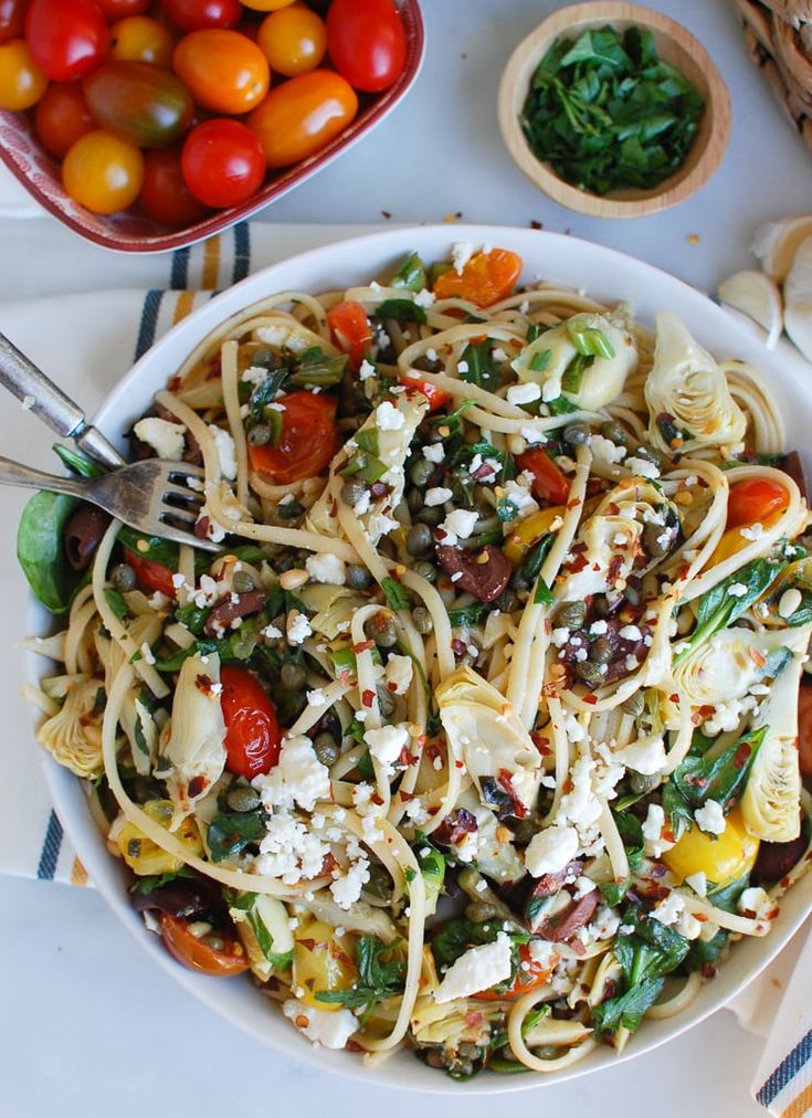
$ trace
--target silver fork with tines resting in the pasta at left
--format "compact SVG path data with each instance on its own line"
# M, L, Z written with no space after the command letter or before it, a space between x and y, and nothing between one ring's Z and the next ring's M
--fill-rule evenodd
M147 458L98 477L57 477L0 455L0 484L66 493L89 501L145 536L219 551L192 529L202 505L204 471L186 462ZM189 479L198 489L190 489Z

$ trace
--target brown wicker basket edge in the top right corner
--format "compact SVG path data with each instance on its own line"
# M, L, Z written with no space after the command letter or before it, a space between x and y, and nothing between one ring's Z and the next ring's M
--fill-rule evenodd
M750 58L812 151L812 0L734 0Z

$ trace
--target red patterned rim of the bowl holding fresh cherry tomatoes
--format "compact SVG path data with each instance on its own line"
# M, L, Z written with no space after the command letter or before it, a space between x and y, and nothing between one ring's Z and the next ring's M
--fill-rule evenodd
M48 191L36 187L26 172L20 168L11 151L0 141L0 161L13 174L20 186L37 201L51 217L55 217L63 225L66 225L73 233L78 234L85 240L89 240L101 248L106 248L116 253L139 253L155 254L172 252L178 248L187 248L205 240L218 233L224 233L233 225L245 221L266 206L271 206L280 198L294 190L301 182L305 182L317 174L322 168L333 160L343 155L353 148L365 135L376 129L404 100L412 86L417 80L426 54L426 28L423 19L419 0L396 0L398 9L408 15L408 26L406 27L407 55L406 65L388 89L380 94L362 94L362 96L375 96L376 100L350 121L337 136L334 136L324 148L320 149L308 159L300 160L291 167L281 168L277 179L263 186L256 195L248 198L239 206L229 209L214 210L208 217L182 229L169 230L155 236L143 236L132 234L117 234L115 225L106 231L91 229L84 226L76 217L63 208L57 200L50 197ZM287 80L287 79L286 79ZM368 113L368 115L363 115ZM0 113L0 123L3 117L15 119L19 113ZM242 117L229 117L240 119ZM38 141L38 150L41 144ZM44 151L44 149L41 149ZM47 152L45 152L48 155ZM50 155L48 155L50 158ZM58 172L58 167L57 167ZM59 181L58 173L51 176L55 181ZM103 217L104 215L95 215Z

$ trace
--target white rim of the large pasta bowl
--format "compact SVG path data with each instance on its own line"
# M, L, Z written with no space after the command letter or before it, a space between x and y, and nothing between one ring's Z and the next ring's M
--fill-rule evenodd
M639 301L653 300L660 297L659 288L664 285L669 301L673 300L678 304L680 314L688 315L689 319L693 314L697 318L704 316L705 321L701 328L691 324L692 332L696 331L700 339L704 334L711 332L711 328L715 326L718 335L725 337L724 344L727 345L727 339L730 339L730 345L737 347L736 351L743 352L743 356L746 357L749 353L755 359L762 358L766 366L772 364L774 368L783 366L785 370L789 368L789 372L785 373L786 381L795 378L800 380L804 375L805 362L800 357L793 358L789 347L786 352L782 351L780 354L768 351L745 326L731 320L720 306L704 293L658 267L615 249L546 230L499 226L460 225L450 227L444 224L405 226L310 249L263 268L221 292L171 328L155 342L151 350L133 364L106 396L97 409L95 421L103 430L106 429L110 433L114 443L117 442L121 446L123 439L120 436L116 437L116 432L111 429L111 424L115 424L116 429L119 429L121 424L133 415L133 408L138 410L139 397L151 397L154 388L150 383L150 378L153 383L160 383L167 379L171 366L176 361L172 351L190 352L200 338L205 337L218 322L229 318L235 309L246 306L271 291L290 288L291 285L286 282L289 272L311 269L313 273L312 282L324 283L323 290L328 290L333 278L330 268L334 269L334 265L331 263L334 254L341 255L340 273L350 282L353 276L357 277L359 273L365 273L368 269L368 264L365 262L370 258L385 257L388 260L398 253L407 252L410 248L434 252L440 245L443 245L445 249L450 243L456 239L474 244L502 244L507 241L506 247L512 245L517 249L523 246L526 255L531 256L531 259L526 258L525 260L528 272L538 271L539 267L549 269L544 273L546 280L567 285L573 285L573 278L570 275L561 277L560 273L570 269L572 260L584 274L587 274L588 265L597 264L603 273L603 278L594 278L591 284L591 290L597 297L606 297L602 294L605 290L614 290L617 295L624 295L623 285L631 282L639 292ZM427 248L423 247L422 243L424 241L427 244ZM553 260L551 265L548 263L549 259ZM327 273L329 278L318 280L317 274L323 273ZM592 275L592 273L588 274ZM657 291L657 296L651 294L654 291ZM648 312L643 312L640 316L645 319L646 315ZM714 348L718 349L720 344L721 342L717 341L714 343ZM777 395L780 404L789 402L781 400L781 390ZM783 395L787 395L785 390ZM783 415L783 408L780 410ZM29 595L29 632L43 632L43 622L48 618L49 615ZM26 654L26 663L27 676L30 682L36 683L46 674L48 662L36 656L35 653ZM447 1077L438 1076L417 1061L414 1061L410 1071L405 1063L400 1067L400 1061L397 1059L393 1059L381 1068L367 1069L355 1053L331 1052L323 1049L314 1051L313 1046L294 1029L291 1029L287 1022L281 1021L281 1015L277 1024L281 1023L284 1029L277 1030L275 1035L271 1035L274 1032L273 1029L262 1027L257 1022L227 1007L218 993L223 988L220 985L177 966L155 937L147 935L140 917L128 906L125 893L121 889L121 869L119 863L107 853L103 839L89 818L81 783L73 774L57 765L44 750L40 750L39 757L55 808L76 853L85 863L106 903L128 927L141 947L150 953L167 974L171 975L192 996L215 1010L219 1016L255 1036L270 1046L272 1051L278 1051L300 1063L311 1064L322 1071L332 1071L351 1079L366 1080L404 1090L429 1095L454 1095L456 1097L525 1091L567 1082L582 1076L598 1072L605 1067L616 1067L642 1057L669 1040L681 1035L695 1024L705 1021L737 996L789 942L805 920L812 901L812 894L810 894L812 879L808 878L805 882L799 882L787 894L790 903L787 904L787 900L784 901L776 926L768 937L761 940L745 939L737 945L731 960L728 960L726 967L720 970L724 980L717 978L714 984L706 985L704 992L707 996L700 995L699 1004L695 1002L692 1008L689 1007L686 1013L668 1021L648 1022L644 1035L636 1038L635 1043L630 1044L620 1055L613 1054L610 1048L605 1048L605 1051L604 1049L598 1050L596 1060L587 1057L582 1063L577 1063L564 1072L550 1076L482 1076L468 1083L455 1082ZM755 958L747 967L749 955L755 955ZM739 961L736 963L736 960ZM736 964L736 968L730 970L729 968L734 964ZM736 969L739 972L738 977ZM249 991L249 994L252 997L256 997L255 991ZM263 1020L266 1020L266 1016Z

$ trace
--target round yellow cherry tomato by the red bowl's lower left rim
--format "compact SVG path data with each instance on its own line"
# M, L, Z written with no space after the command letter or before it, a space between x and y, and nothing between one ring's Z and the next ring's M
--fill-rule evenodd
M141 192L144 161L139 149L108 132L77 140L62 165L66 192L94 214L126 209Z

